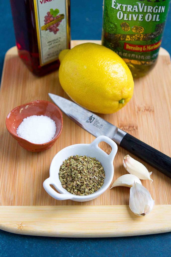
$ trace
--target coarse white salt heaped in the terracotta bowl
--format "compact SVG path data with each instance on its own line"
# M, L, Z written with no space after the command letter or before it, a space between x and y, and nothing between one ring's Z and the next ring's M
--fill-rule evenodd
M25 118L17 128L17 135L34 144L51 141L56 133L54 120L44 115Z

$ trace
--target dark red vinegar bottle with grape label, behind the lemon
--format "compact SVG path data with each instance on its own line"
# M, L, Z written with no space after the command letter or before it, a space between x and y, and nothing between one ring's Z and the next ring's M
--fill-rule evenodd
M37 76L59 68L70 48L69 0L11 0L18 55Z

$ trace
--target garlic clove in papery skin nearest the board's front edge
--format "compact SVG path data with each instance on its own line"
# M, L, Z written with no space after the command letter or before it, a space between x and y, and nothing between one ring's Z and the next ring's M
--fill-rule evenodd
M135 182L130 188L129 208L134 214L145 216L151 212L153 206L154 200L149 191L139 183Z

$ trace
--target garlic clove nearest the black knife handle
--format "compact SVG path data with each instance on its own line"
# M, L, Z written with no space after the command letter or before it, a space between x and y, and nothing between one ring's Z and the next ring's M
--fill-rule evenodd
M148 170L142 163L140 163L139 161L136 161L128 154L124 157L123 163L124 163L124 168L130 174L137 176L139 179L148 179L153 182L153 180L150 178L150 175L152 174L152 172L148 172Z

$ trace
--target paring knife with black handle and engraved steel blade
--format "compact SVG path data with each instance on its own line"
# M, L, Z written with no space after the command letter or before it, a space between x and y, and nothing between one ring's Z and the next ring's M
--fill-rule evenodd
M94 136L105 135L115 143L171 178L171 158L83 107L49 93L53 102L75 123Z

